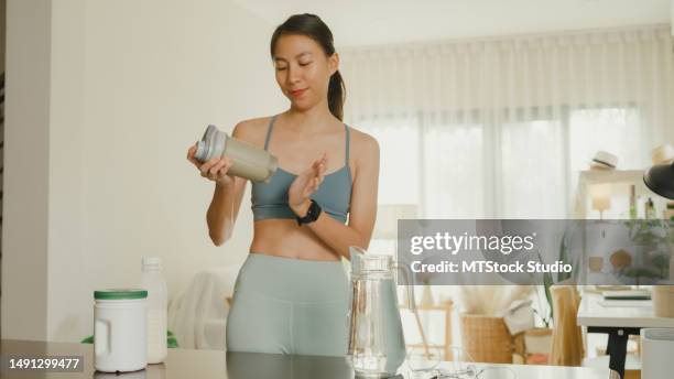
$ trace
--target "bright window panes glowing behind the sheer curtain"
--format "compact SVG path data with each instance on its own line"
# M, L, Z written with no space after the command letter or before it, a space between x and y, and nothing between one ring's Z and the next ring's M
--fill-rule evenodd
M380 144L380 204L417 204L425 218L566 218L578 172L597 150L617 154L620 167L648 165L637 107L476 110L442 119L420 112L356 123Z

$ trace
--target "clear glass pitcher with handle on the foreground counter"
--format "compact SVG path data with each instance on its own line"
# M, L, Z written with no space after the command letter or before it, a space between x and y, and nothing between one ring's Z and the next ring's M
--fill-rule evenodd
M351 302L347 360L360 378L394 376L405 360L405 340L398 307L395 271L407 284L409 307L415 308L411 270L394 264L393 257L366 253L349 248L351 258Z

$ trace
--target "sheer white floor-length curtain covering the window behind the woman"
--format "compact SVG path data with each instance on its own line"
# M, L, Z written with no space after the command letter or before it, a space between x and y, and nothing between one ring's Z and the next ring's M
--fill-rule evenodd
M380 142L380 204L569 217L597 150L643 169L674 130L672 46L653 25L340 51L346 121Z

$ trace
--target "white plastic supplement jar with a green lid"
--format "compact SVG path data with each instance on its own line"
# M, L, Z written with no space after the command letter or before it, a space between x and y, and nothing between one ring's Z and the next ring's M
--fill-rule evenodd
M99 371L135 371L145 368L148 291L94 291L94 367Z

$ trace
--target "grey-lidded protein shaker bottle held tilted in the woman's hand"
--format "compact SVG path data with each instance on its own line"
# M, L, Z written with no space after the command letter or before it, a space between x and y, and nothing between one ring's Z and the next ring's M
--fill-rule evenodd
M276 172L276 158L267 150L229 137L216 126L209 124L202 140L196 143L194 156L202 163L216 156L233 160L229 173L253 182L267 182Z

